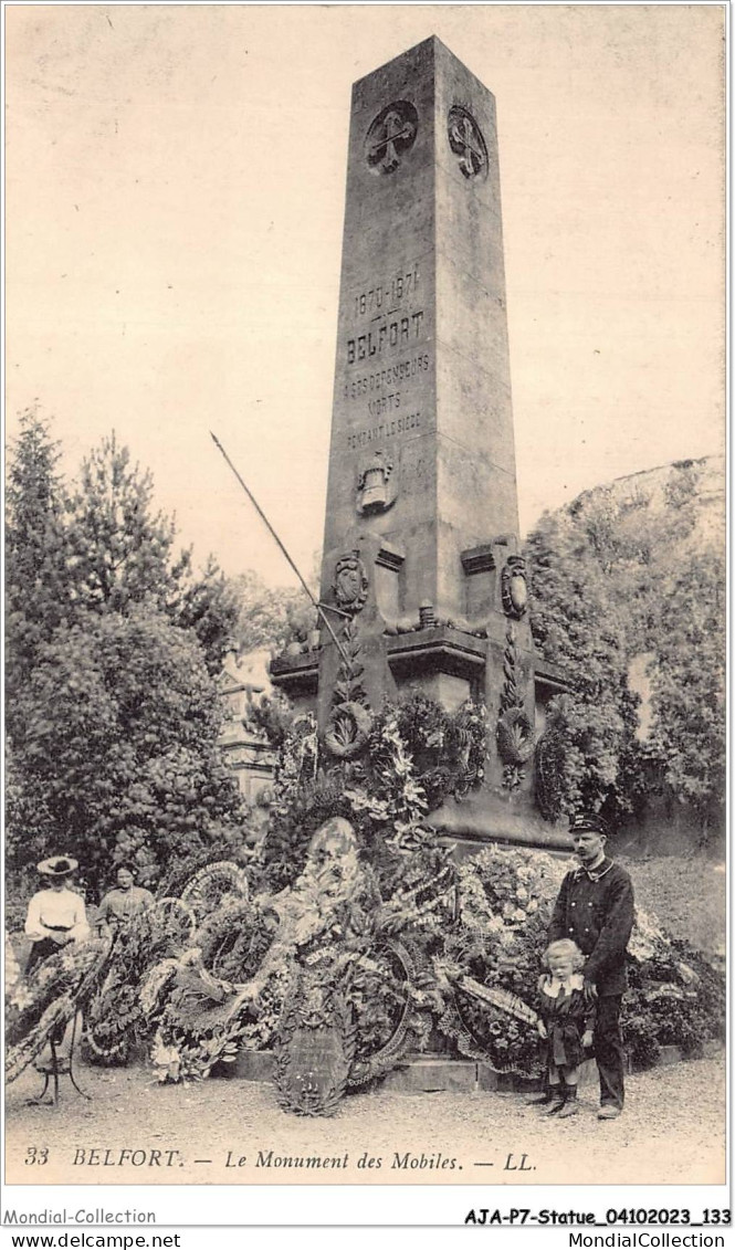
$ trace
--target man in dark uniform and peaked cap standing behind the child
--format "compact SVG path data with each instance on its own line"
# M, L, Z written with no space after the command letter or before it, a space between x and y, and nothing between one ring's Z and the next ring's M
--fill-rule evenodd
M549 941L571 938L585 956L585 995L598 998L595 1058L600 1074L599 1120L615 1120L625 1098L620 1004L626 988L625 949L635 919L632 884L605 855L608 828L596 815L570 826L579 868L561 882Z

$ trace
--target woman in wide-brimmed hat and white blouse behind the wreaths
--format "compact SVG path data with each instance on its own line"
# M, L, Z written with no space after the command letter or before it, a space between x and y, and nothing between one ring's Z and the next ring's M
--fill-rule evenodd
M44 889L34 894L28 905L25 932L32 946L25 969L28 976L34 968L58 955L71 941L85 941L89 935L84 899L69 889L69 880L78 862L69 855L52 855L36 865L44 879Z

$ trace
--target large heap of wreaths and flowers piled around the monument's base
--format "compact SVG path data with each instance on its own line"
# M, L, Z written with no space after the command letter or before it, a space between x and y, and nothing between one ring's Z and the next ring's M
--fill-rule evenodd
M450 715L415 694L360 729L359 751L325 754L314 718L296 718L256 855L192 864L181 898L120 932L89 1011L98 1061L124 1061L145 1040L159 1080L189 1081L240 1049L274 1049L280 1098L301 1114L331 1114L345 1089L436 1031L499 1071L539 1070L532 1008L569 862L489 846L456 864L439 845L431 811L482 779L480 705ZM719 1035L722 979L704 958L644 912L630 956L624 1030L636 1062ZM321 1029L332 1068L299 1075Z

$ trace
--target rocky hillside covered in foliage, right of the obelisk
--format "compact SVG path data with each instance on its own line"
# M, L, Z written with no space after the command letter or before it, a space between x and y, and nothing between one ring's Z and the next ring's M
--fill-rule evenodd
M575 691L551 709L558 814L590 801L642 820L684 809L705 835L721 822L725 516L712 456L585 491L529 535L536 646Z

